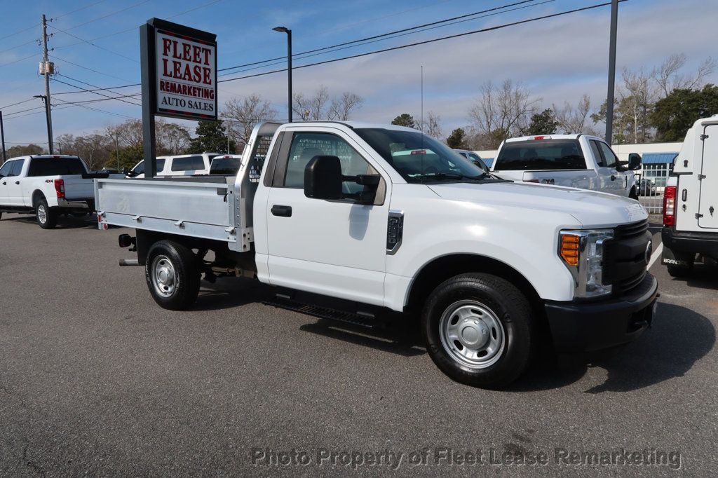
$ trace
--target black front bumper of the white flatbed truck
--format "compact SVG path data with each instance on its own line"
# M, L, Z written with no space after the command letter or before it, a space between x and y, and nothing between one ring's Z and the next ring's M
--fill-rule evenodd
M658 281L650 273L625 296L591 302L546 301L557 352L592 352L631 342L651 326Z

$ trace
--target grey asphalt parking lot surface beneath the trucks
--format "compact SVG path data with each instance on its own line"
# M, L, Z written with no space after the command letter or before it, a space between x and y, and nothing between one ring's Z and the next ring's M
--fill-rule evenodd
M0 221L2 476L718 466L718 274L707 266L673 280L656 261L658 316L643 337L591 362L542 361L498 392L445 377L409 321L348 329L262 305L252 282L203 288L192 311L160 309L144 270L117 266L131 257L119 231ZM548 463L510 464L507 451ZM625 461L634 451L642 464ZM572 452L618 458L572 464Z

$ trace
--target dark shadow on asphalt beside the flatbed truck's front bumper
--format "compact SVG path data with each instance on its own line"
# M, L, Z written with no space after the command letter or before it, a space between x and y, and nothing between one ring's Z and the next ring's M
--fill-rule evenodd
M682 377L713 350L715 341L715 327L707 317L686 307L661 303L653 328L635 342L590 358L571 357L570 366L533 367L509 390L560 388L580 380L589 367L605 369L608 377L584 393L639 390Z

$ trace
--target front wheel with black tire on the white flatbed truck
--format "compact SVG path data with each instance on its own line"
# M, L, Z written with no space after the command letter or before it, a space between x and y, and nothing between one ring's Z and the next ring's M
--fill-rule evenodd
M493 320L493 322L483 322L484 319L481 319L480 323L488 328L477 327L476 331L472 332L475 334L473 337L479 337L478 340L482 337L485 339L487 329L494 339L497 337L497 332L503 337L503 349L493 355L490 359L493 362L480 367L475 364L467 365L457 359L460 350L464 348L458 348L461 344L457 343L457 340L453 342L456 346L444 345L443 332L440 332L442 327L449 327L448 323L454 324L458 320L460 311L456 309L457 307L465 312L468 309L471 313L474 311L472 304L478 304L488 313L477 314L475 317L488 317ZM452 317L454 313L457 317ZM490 317L491 314L493 319ZM491 323L496 324L496 319L500 327L491 325ZM462 320L477 324L473 318ZM472 327L468 325L467 328ZM459 324L451 327L462 326ZM462 330L462 340L465 339L463 334L467 328ZM503 388L516 380L526 370L536 341L531 306L526 296L505 279L486 273L455 276L434 289L421 312L421 332L424 334L429 356L442 372L457 382L481 388ZM446 338L447 335L444 334L444 337ZM488 337L488 340L491 341L491 337ZM477 350L480 348L477 347ZM470 351L471 347L467 347L467 352ZM482 359L477 357L474 360Z

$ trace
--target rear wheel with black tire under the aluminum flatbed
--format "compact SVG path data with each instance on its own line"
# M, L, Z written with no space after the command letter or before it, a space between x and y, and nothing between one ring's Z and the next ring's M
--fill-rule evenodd
M159 269L164 271L164 282ZM197 301L200 269L192 250L184 245L170 240L154 243L147 253L144 270L149 293L163 309L186 310Z

